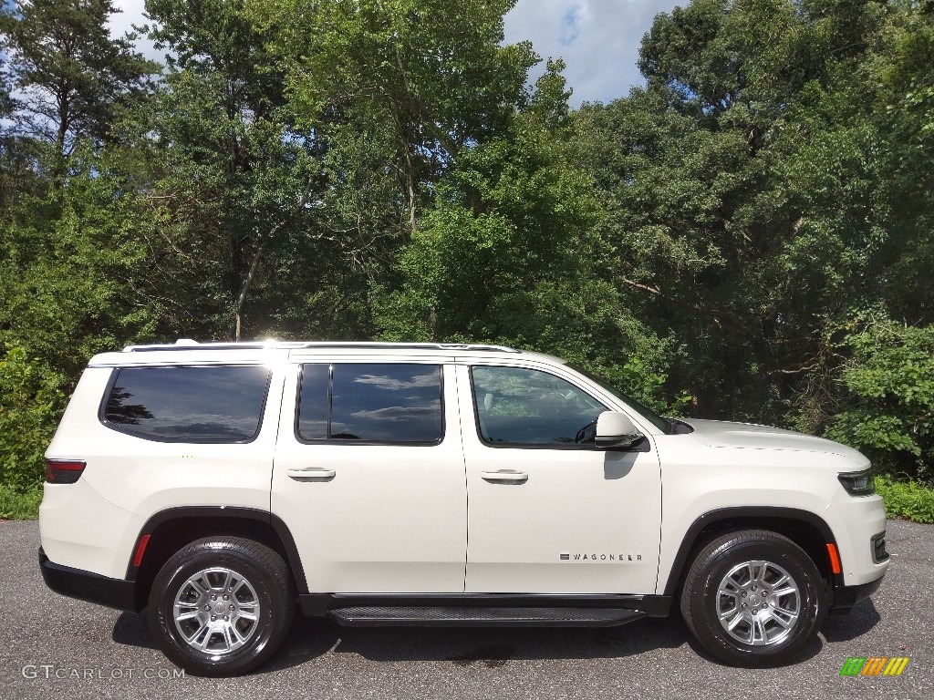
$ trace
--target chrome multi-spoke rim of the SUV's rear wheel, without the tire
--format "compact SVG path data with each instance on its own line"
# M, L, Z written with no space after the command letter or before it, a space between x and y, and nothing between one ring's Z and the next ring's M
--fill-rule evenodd
M260 598L242 574L205 568L182 584L172 610L176 629L191 649L222 656L256 634Z

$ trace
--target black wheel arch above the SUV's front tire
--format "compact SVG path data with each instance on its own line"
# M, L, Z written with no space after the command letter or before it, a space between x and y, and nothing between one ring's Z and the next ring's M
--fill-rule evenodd
M829 525L814 512L795 508L749 506L708 511L687 528L685 537L672 561L664 595L676 595L686 571L697 553L712 539L745 529L771 530L797 544L814 561L828 585L842 586L841 574L834 574L828 556L828 544L837 540Z

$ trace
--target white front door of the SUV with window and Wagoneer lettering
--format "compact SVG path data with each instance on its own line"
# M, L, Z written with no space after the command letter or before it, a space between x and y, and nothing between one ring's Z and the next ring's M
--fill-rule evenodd
M570 370L457 371L466 592L655 593L661 476L651 435L635 450L596 449L597 416L619 407Z

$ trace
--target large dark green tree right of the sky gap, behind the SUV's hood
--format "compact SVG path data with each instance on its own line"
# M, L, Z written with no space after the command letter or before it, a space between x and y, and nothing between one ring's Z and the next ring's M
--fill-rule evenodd
M644 91L576 116L616 285L681 343L670 381L698 415L798 415L813 371L835 376L833 329L878 301L889 195L859 68L885 21L862 1L697 0L645 36Z

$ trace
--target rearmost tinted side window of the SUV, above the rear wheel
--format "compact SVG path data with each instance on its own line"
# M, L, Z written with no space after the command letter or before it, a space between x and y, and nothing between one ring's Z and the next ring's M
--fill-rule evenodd
M162 442L249 442L270 372L259 366L125 367L110 383L106 427Z

